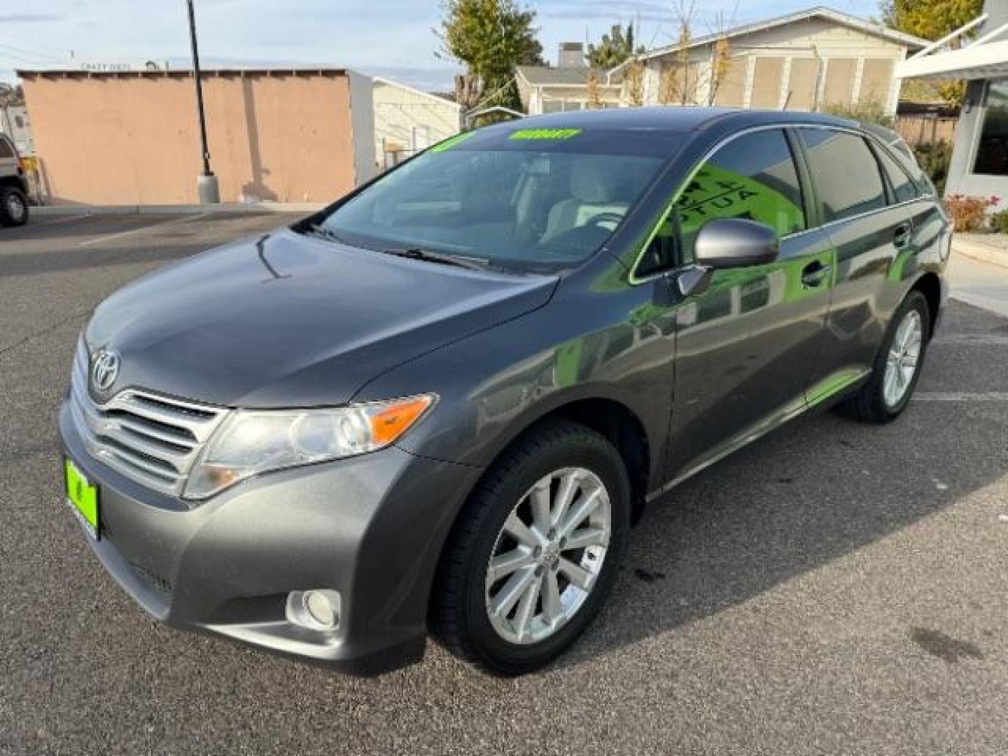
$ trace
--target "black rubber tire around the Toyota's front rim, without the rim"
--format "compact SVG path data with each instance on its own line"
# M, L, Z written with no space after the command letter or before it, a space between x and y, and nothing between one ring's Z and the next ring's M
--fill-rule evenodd
M487 612L486 575L505 520L542 477L569 467L594 473L610 497L611 535L598 577L581 608L535 643L501 637ZM470 496L442 553L431 596L433 637L456 656L501 676L538 669L585 631L612 590L630 527L630 479L619 453L601 434L563 419L543 421L511 445Z

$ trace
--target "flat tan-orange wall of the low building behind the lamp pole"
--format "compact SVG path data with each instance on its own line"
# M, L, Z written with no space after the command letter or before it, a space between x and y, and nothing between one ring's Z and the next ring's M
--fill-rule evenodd
M29 76L24 92L51 202L197 202L192 77ZM325 202L353 188L346 76L212 74L204 99L223 201Z

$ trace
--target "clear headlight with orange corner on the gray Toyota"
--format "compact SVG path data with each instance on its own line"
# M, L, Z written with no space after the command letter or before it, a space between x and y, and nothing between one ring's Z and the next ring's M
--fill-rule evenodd
M336 409L238 410L211 437L184 496L206 499L268 470L383 449L433 402L433 395L422 394Z

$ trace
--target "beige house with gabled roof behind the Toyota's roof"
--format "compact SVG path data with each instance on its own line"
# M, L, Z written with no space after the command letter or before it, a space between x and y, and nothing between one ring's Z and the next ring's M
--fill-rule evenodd
M724 73L715 76L718 46ZM895 69L923 39L881 24L815 7L700 36L637 57L643 65L644 105L721 105L818 110L830 105L876 103L896 112ZM683 60L686 61L683 66ZM629 105L628 64L601 76L604 104ZM529 114L586 107L588 70L519 70ZM562 86L560 86L562 84Z

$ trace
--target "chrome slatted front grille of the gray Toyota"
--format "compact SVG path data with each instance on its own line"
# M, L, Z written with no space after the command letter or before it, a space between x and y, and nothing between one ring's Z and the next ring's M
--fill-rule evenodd
M82 340L74 357L70 409L89 453L138 483L180 496L228 410L137 389L98 404L88 392L89 368Z

